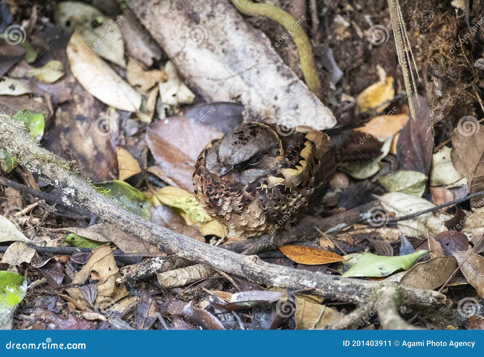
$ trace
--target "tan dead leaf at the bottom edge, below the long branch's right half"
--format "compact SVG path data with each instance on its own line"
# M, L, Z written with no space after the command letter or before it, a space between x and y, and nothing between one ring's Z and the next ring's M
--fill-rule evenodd
M322 328L343 317L341 312L325 305L315 304L301 297L295 297L297 312L295 315L297 330Z

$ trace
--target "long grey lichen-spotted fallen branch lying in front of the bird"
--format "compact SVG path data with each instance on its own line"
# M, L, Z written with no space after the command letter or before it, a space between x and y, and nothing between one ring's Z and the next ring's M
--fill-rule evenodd
M0 114L0 147L7 149L28 170L41 175L43 180L61 189L65 194L63 201L66 204L77 202L122 231L182 258L257 283L294 291L313 289L311 294L357 304L366 302L372 297L373 291L380 287L378 282L272 265L257 256L230 252L147 222L119 206L111 197L96 192L67 161L42 148L30 136L24 122L5 114ZM432 290L400 286L400 291L400 303L405 305L435 306L446 302L443 294Z

